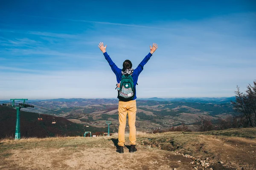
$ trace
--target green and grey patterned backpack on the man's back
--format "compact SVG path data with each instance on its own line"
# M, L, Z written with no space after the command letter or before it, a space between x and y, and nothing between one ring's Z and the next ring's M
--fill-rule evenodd
M131 75L122 75L117 98L121 101L131 101L134 98L134 95L135 89L133 78Z

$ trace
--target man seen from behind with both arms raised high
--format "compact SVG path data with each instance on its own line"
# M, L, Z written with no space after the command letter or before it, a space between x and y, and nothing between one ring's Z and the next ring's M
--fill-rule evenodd
M152 54L156 51L158 48L156 43L153 43L153 46L150 47L150 52L148 55L143 59L143 61L137 66L136 69L132 69L132 63L129 60L125 60L123 63L123 69L119 69L115 63L111 60L108 53L106 52L107 45L104 46L103 43L99 43L99 49L103 52L103 55L105 56L105 59L108 61L109 65L111 66L112 71L116 75L116 81L118 84L120 84L121 79L124 77L123 75L131 75L133 80L133 88L134 91L130 93L130 96L127 100L121 100L119 98L118 103L118 115L119 115L119 129L118 129L118 148L116 149L116 152L118 153L124 153L124 145L125 145L125 126L126 126L126 116L128 114L128 123L129 123L129 140L131 147L129 148L130 153L134 153L137 151L136 146L136 127L135 127L135 120L136 120L136 84L138 81L138 77L140 73L143 70L143 66L148 62ZM128 85L126 85L128 86ZM121 89L122 87L120 87ZM119 92L121 93L121 91ZM131 95L132 94L132 95ZM125 95L125 94L123 94ZM126 94L127 95L127 94ZM124 96L125 97L125 96Z

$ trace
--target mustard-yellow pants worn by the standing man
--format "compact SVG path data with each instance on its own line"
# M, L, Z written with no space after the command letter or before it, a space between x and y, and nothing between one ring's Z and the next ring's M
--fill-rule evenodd
M130 144L136 144L136 100L133 101L119 101L118 103L118 115L119 115L119 129L118 129L118 145L125 145L125 126L126 126L126 117L128 113L128 123L130 130Z

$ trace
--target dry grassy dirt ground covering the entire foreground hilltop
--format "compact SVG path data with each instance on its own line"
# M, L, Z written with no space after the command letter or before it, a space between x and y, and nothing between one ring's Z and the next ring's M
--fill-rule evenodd
M138 151L128 152L126 135L123 154L116 153L116 135L6 139L0 141L0 170L256 170L254 139L192 133L137 136ZM184 144L177 144L179 139ZM145 144L146 140L154 142ZM209 167L202 167L200 161Z

